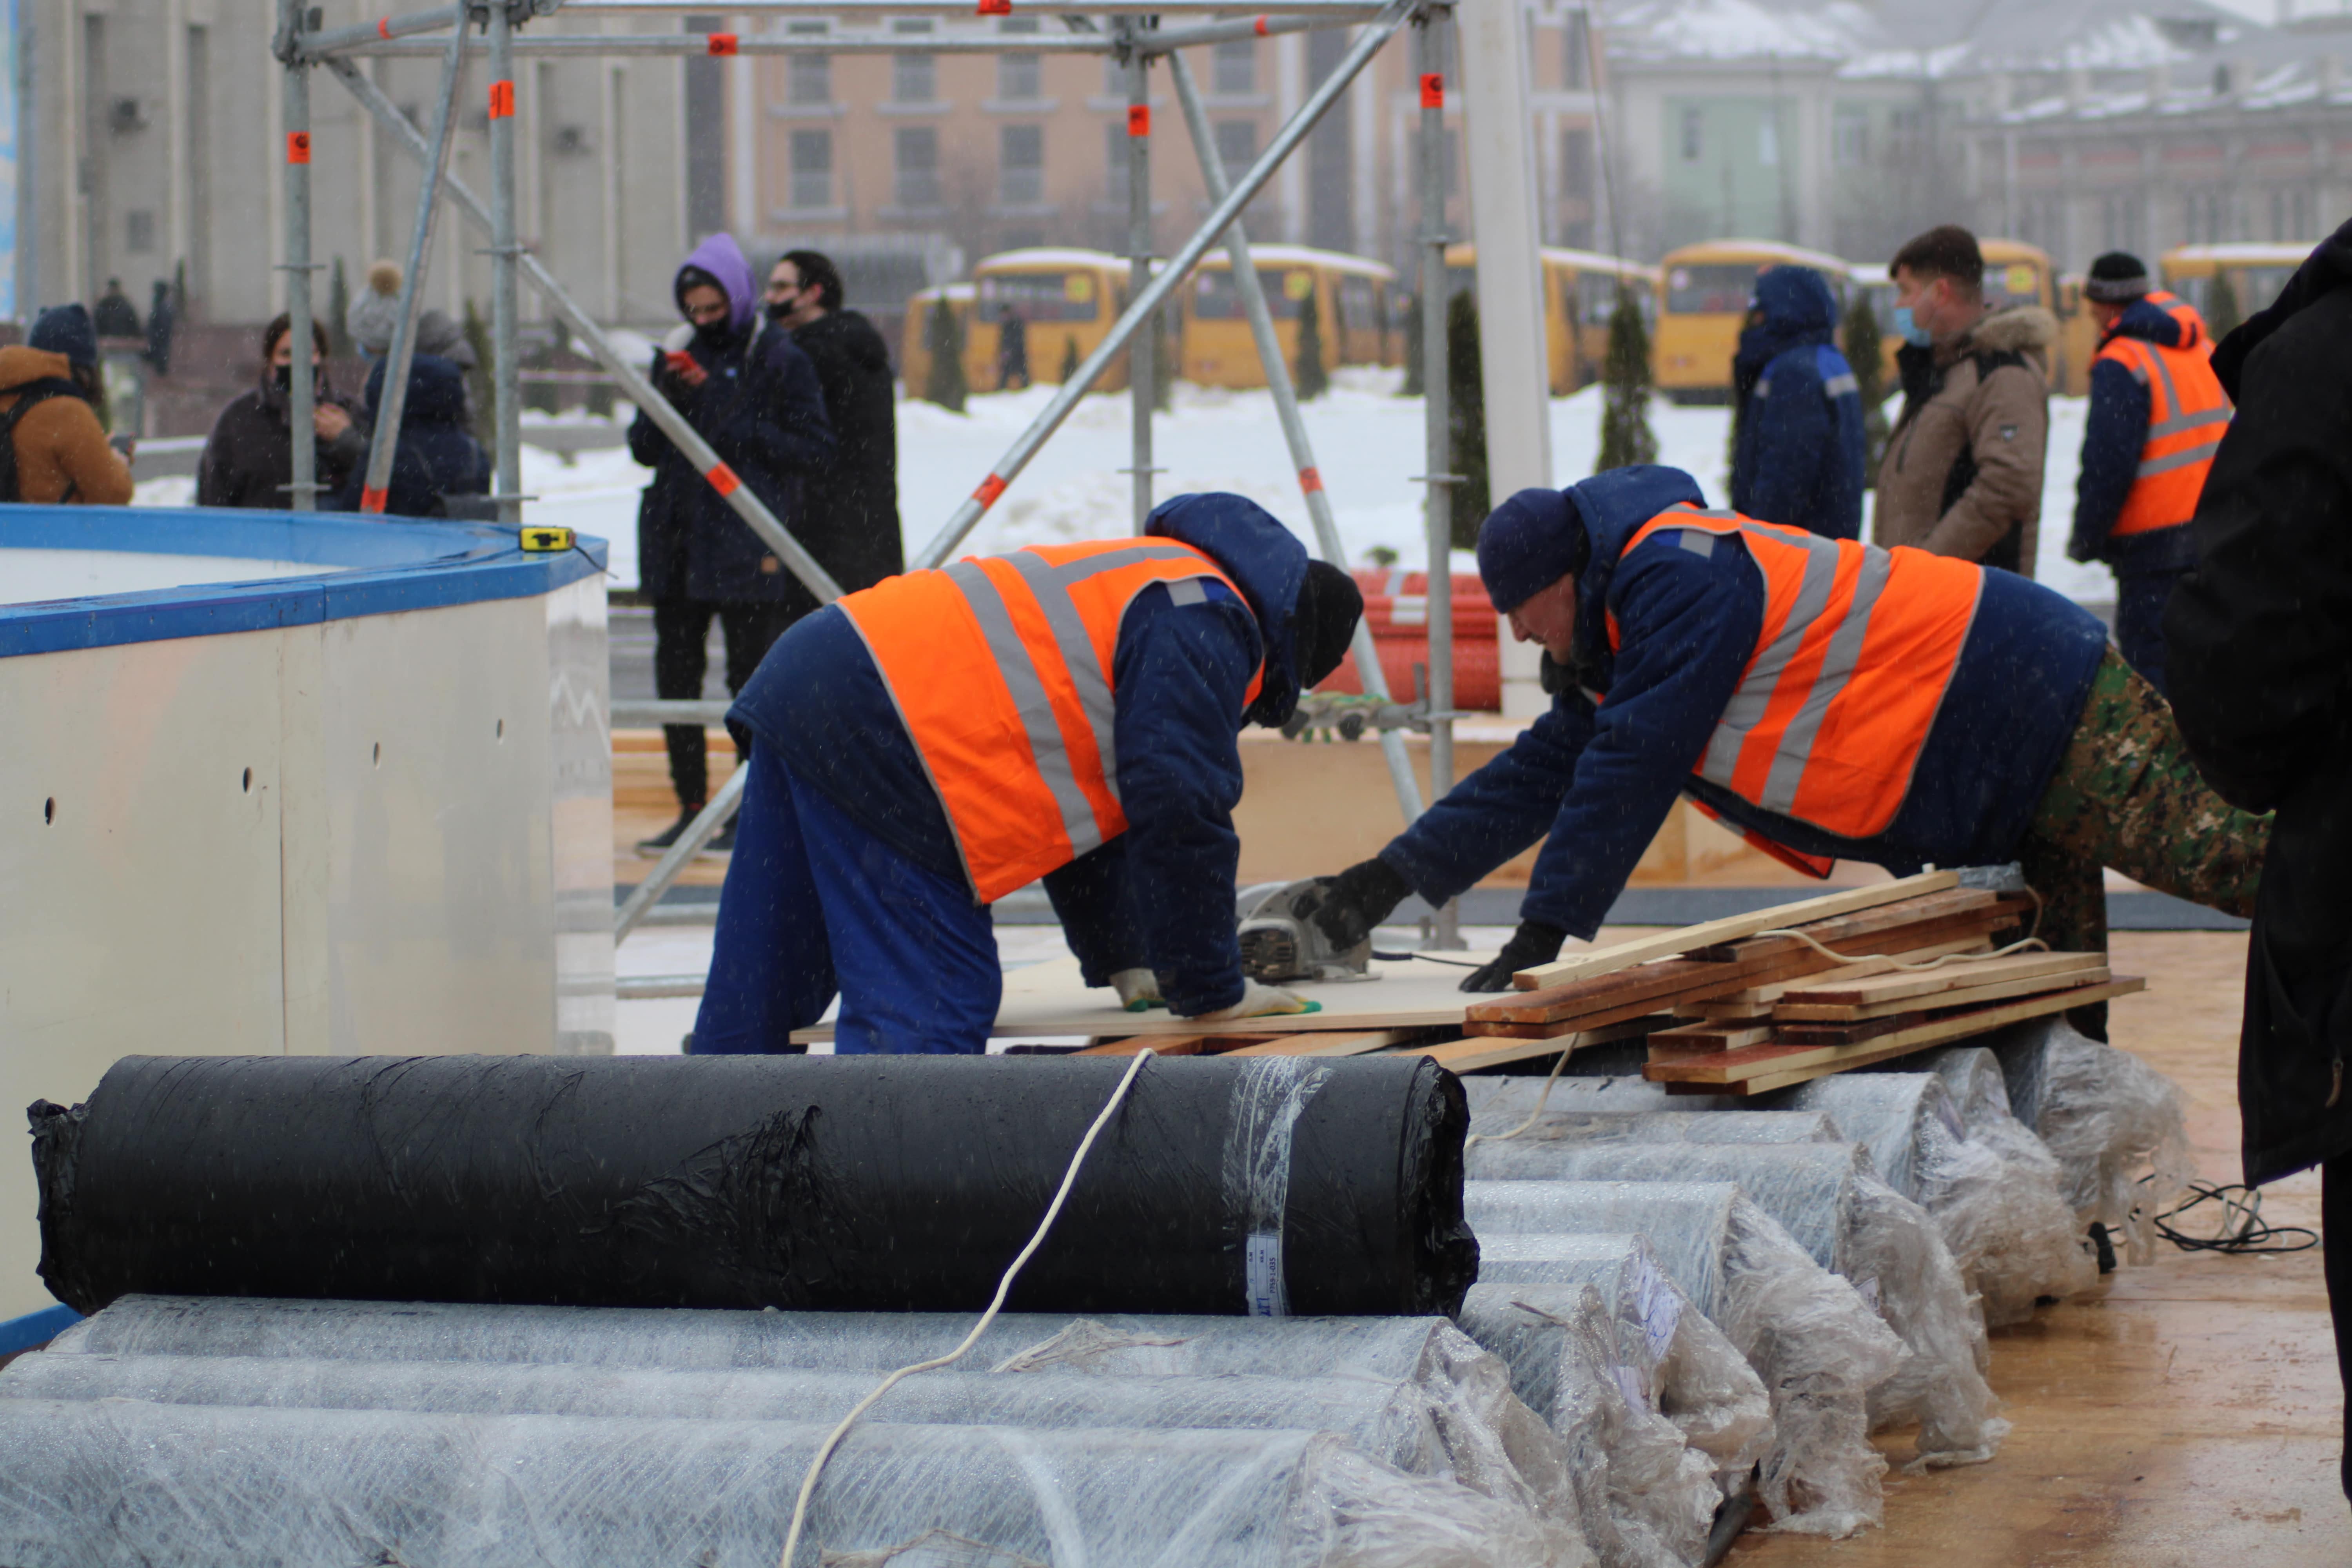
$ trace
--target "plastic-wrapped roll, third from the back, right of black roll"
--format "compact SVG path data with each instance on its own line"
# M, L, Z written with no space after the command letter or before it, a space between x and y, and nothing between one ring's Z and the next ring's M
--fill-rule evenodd
M1484 1147L1484 1145L1482 1145ZM1872 1429L1919 1422L1919 1458L1929 1465L1990 1460L2009 1422L1985 1382L1992 1349L1985 1319L1962 1284L1936 1220L1870 1171L1860 1145L1705 1145L1609 1143L1550 1145L1548 1178L1564 1182L1635 1180L1738 1182L1778 1220L1813 1262L1842 1274L1886 1316L1910 1347L1886 1385L1870 1394ZM1468 1182L1470 1222L1519 1182ZM1517 1222L1519 1229L1534 1229Z

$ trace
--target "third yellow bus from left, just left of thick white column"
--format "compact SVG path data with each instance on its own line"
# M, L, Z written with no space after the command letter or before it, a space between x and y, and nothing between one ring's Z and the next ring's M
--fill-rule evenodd
M1298 313L1315 301L1324 369L1341 364L1395 364L1388 329L1395 268L1305 244L1251 244L1265 310L1275 317L1282 357L1298 364ZM1178 374L1195 386L1265 386L1258 343L1232 287L1232 259L1209 256L1183 287L1183 327L1176 348Z

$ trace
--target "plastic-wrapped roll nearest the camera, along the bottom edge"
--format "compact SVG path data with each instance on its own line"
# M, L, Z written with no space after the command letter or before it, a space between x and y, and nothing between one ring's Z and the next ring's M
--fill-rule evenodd
M826 1432L0 1399L0 1561L769 1568ZM793 1568L849 1554L1592 1561L1569 1526L1399 1474L1336 1434L894 1425L858 1427L833 1455Z

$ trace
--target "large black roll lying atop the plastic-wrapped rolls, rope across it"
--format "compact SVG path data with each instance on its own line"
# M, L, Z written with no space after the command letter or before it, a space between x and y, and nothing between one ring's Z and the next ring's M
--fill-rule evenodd
M1124 1060L127 1056L35 1103L40 1274L132 1291L981 1309ZM1150 1060L1016 1312L1451 1314L1461 1084Z

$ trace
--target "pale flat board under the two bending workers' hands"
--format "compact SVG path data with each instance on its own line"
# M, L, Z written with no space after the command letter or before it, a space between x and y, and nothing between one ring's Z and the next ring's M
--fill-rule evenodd
M1491 952L1449 952L1451 964L1430 959L1406 959L1399 964L1374 961L1374 980L1301 983L1301 997L1322 1004L1319 1013L1287 1013L1279 1018L1242 1018L1228 1025L1209 1025L1197 1018L1176 1018L1167 1009L1129 1013L1117 994L1105 987L1089 990L1077 973L1077 959L1049 959L1007 971L1004 1001L997 1004L993 1037L1016 1039L1124 1039L1134 1034L1204 1034L1223 1030L1228 1034L1317 1034L1399 1027L1449 1027L1458 1030L1463 1011L1477 994L1463 992L1463 976L1470 966L1491 959ZM833 1023L793 1030L802 1044L833 1039Z

